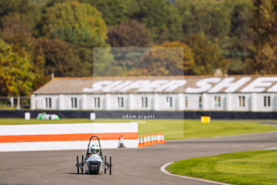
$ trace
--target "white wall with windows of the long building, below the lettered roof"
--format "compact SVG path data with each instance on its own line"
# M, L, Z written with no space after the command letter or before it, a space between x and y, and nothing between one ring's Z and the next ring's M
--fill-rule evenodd
M216 99L220 97L219 102ZM241 104L240 98L241 97ZM244 101L242 101L244 97ZM264 105L264 97L269 101ZM31 97L37 109L52 110L160 110L160 111L277 111L277 93L184 93L184 94L81 94L81 95L37 95ZM51 108L46 106L46 98L51 98ZM72 107L72 99L75 104ZM95 98L98 101L95 107ZM123 98L123 107L119 106L118 98ZM144 105L142 104L142 98ZM187 98L187 104L186 104ZM34 100L35 99L35 100ZM147 106L145 100L147 99ZM199 99L202 99L200 107ZM49 100L48 100L49 101ZM171 103L170 103L171 101ZM244 104L243 104L244 103ZM170 106L171 105L171 106ZM186 106L187 105L187 106Z

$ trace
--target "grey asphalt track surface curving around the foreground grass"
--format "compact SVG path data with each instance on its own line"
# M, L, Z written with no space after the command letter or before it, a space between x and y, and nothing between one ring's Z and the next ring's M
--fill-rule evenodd
M172 140L135 149L103 149L112 175L77 174L86 150L0 152L0 184L213 184L168 175L161 166L182 159L277 147L277 132Z

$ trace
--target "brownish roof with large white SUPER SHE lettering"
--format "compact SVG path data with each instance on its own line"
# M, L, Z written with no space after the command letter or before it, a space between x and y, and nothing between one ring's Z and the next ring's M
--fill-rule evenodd
M277 75L55 77L33 94L277 92Z

